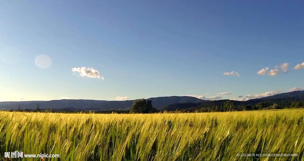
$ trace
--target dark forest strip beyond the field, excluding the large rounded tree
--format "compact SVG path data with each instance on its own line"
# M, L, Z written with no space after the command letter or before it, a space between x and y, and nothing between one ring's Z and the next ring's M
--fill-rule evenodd
M153 102L151 102L153 105ZM227 112L244 110L269 110L304 107L304 99L296 98L278 98L278 99L252 99L247 101L235 100L215 100L203 103L175 103L162 109L155 109L153 113L171 112L171 113L192 113L192 112ZM60 113L130 113L132 109L125 110L70 110L70 109L36 109L10 110L25 112L60 112Z

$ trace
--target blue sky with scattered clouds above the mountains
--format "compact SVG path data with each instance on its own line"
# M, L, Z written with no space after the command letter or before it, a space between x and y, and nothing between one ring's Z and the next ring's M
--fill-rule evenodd
M304 90L303 6L1 1L0 101L246 100Z

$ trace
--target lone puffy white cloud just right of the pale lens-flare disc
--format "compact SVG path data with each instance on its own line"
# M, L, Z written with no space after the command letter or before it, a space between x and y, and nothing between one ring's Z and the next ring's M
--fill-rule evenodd
M99 74L98 70L93 68L87 68L87 67L72 68L72 72L74 72L75 75L77 75L76 73L78 72L78 76L81 77L97 78L104 80L104 78Z

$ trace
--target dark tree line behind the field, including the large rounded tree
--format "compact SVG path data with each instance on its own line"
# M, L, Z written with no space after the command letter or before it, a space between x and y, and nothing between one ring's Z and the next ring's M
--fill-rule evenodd
M157 113L157 112L228 112L228 111L244 111L244 110L269 110L269 109L284 109L284 108L300 108L304 107L304 99L269 99L269 100L249 100L249 101L233 101L233 100L218 100L207 101L205 103L176 103L159 110L153 107L151 100L135 100L130 110L74 110L74 111L52 111L48 109L40 109L40 105L36 105L36 109L10 110L10 111L25 111L25 112L63 112L63 113Z

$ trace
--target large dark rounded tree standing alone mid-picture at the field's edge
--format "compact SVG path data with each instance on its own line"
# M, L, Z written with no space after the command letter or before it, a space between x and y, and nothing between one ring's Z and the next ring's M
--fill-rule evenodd
M146 114L146 113L154 113L156 112L156 109L152 106L151 100L140 99L140 100L135 100L133 102L130 112Z

